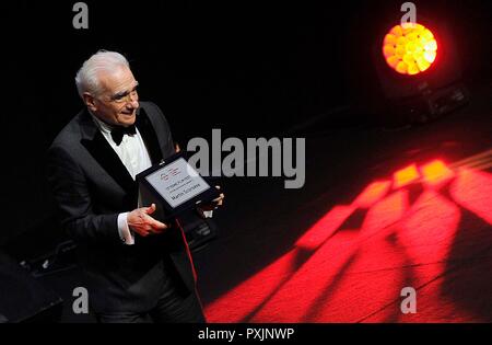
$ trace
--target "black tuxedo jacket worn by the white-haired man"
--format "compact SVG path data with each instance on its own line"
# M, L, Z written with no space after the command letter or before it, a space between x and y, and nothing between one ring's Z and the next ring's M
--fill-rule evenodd
M175 152L167 120L155 104L140 102L136 125L153 164ZM191 256L177 221L162 234L136 234L134 245L119 238L117 217L137 208L137 183L86 110L49 148L48 180L61 225L78 243L96 312L149 310L165 279L185 295L195 290Z

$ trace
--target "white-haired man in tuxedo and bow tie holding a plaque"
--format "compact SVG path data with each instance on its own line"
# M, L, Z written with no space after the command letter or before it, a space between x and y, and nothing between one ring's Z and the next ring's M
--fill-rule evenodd
M178 220L163 223L152 218L155 205L137 206L136 175L175 152L166 118L139 102L118 53L93 55L75 83L85 108L54 140L48 172L97 320L204 322Z

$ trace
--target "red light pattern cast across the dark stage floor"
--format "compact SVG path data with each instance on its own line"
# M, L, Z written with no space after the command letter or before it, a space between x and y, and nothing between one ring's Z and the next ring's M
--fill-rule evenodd
M421 166L410 164L393 176L393 193L390 181L374 182L350 206L335 206L290 252L206 306L208 320L401 319L395 312L378 319L374 311L398 300L402 284L423 285L442 274L457 232L466 231L459 229L460 207L492 225L492 174L467 169L454 172L434 160ZM418 182L423 192L409 205L407 186ZM453 199L441 194L447 183ZM340 231L358 209L367 209L359 231ZM367 301L368 296L372 300Z

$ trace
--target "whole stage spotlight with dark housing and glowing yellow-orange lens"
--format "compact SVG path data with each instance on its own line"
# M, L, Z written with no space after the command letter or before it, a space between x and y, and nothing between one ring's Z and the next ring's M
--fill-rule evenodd
M444 21L420 15L419 23L380 24L373 34L375 90L382 92L366 97L385 124L426 123L468 102L456 37Z

